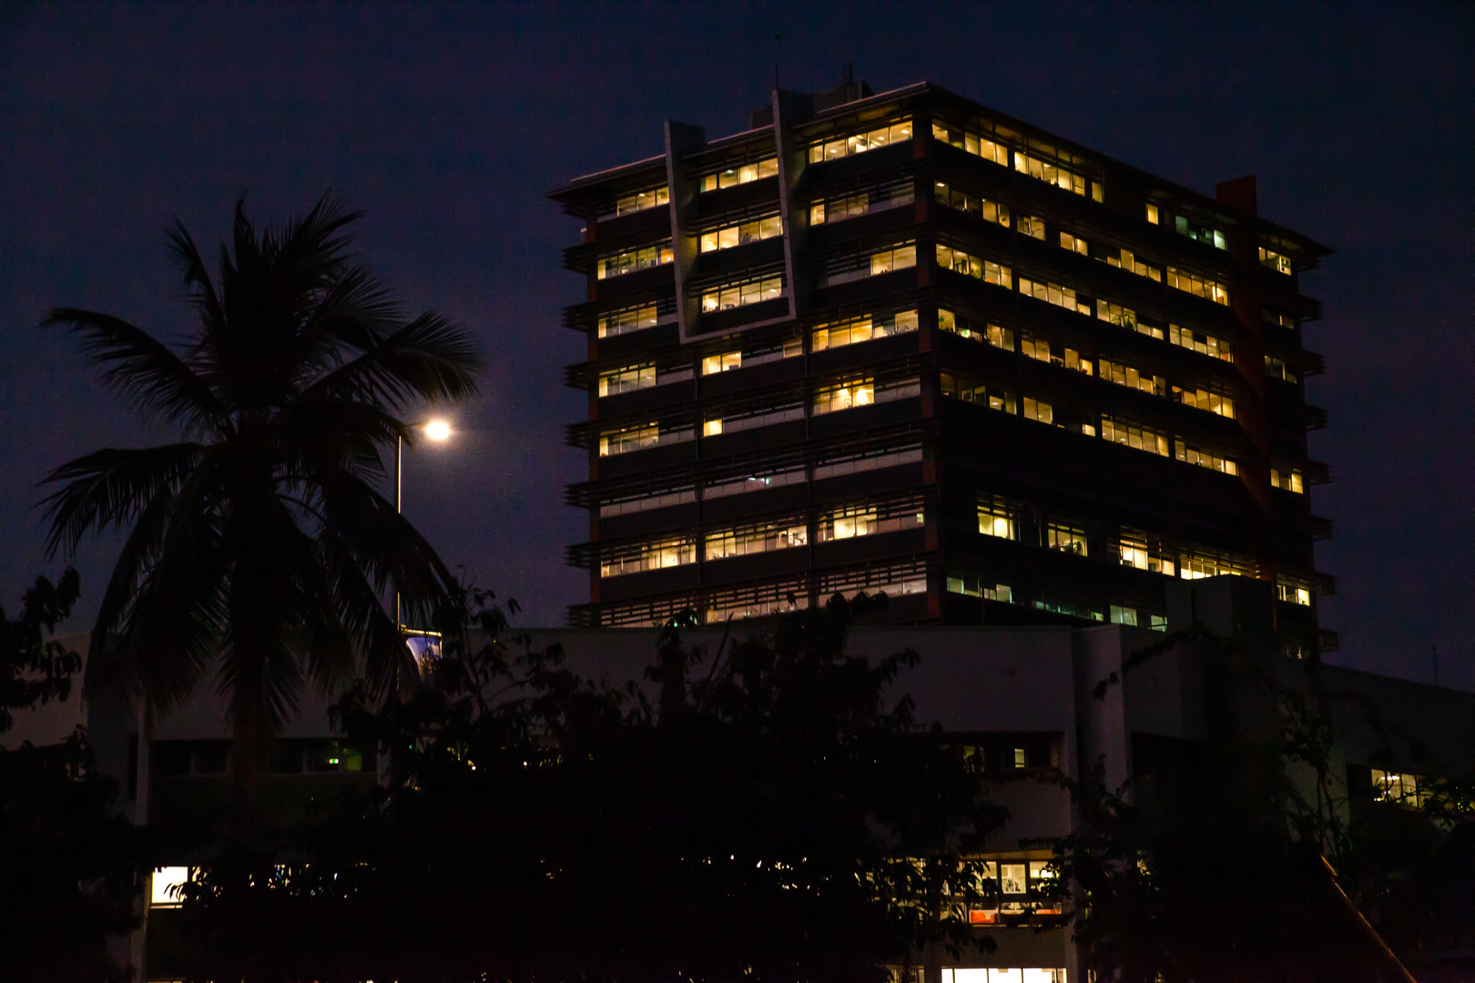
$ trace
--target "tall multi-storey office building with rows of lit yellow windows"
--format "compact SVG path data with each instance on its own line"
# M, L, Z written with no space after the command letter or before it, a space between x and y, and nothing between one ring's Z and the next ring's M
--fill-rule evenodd
M777 91L752 128L552 197L589 337L580 625L830 594L894 622L1159 626L1167 578L1274 584L1326 648L1301 346L1329 251L937 85Z

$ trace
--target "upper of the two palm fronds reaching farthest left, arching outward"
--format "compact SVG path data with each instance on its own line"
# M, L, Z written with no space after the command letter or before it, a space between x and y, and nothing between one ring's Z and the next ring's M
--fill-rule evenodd
M142 327L97 311L60 307L41 327L68 326L81 351L103 368L105 386L146 413L204 432L226 426L226 413L209 386L164 342Z

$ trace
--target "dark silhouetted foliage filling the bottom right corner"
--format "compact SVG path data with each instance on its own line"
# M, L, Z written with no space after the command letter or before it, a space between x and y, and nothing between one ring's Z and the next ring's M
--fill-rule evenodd
M1376 707L1332 691L1316 660L1267 665L1198 626L1133 653L1093 696L1180 648L1233 694L1211 710L1210 740L1134 735L1130 787L1108 788L1099 765L1065 783L1080 824L1050 844L1087 965L1124 983L1406 980L1385 939L1403 954L1472 940L1469 923L1453 926L1475 899L1456 825L1468 788L1431 783L1419 811L1350 800L1332 710L1358 710L1391 752ZM1454 861L1443 878L1441 855Z

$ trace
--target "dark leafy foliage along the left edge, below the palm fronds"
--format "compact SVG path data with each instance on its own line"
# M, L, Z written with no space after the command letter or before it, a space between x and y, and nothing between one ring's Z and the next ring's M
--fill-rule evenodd
M81 656L44 632L77 595L68 569L55 585L37 578L15 620L0 612L0 732L12 710L68 699ZM124 979L105 943L137 921L140 849L112 814L117 791L81 730L63 744L0 750L0 980Z

